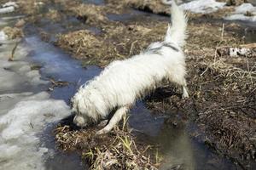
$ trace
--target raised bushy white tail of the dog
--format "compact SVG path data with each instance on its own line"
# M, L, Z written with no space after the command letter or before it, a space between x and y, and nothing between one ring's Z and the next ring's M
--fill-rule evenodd
M183 10L177 7L175 0L172 0L172 26L168 26L166 31L166 42L177 43L178 46L183 47L187 37L187 18Z

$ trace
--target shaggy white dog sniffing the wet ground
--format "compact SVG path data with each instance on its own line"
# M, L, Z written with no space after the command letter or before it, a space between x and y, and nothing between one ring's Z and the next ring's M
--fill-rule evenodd
M86 82L73 96L73 122L85 127L91 122L107 119L108 125L97 133L108 133L125 115L136 99L160 85L164 79L183 87L183 98L189 97L186 88L185 43L187 20L183 10L172 3L172 27L168 26L165 41L154 42L131 59L113 61L100 76Z

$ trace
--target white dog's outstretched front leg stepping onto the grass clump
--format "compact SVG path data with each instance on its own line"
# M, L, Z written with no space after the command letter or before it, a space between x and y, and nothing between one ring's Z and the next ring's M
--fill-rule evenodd
M122 119L123 116L128 111L127 106L120 107L114 114L113 117L108 122L108 125L101 130L99 130L96 134L108 133L113 129L113 127Z

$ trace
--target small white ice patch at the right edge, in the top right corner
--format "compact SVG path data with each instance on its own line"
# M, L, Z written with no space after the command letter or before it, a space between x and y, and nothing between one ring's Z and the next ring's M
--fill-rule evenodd
M247 15L249 13L249 15ZM256 22L256 7L251 3L242 3L236 7L236 11L224 18L225 20L248 20Z

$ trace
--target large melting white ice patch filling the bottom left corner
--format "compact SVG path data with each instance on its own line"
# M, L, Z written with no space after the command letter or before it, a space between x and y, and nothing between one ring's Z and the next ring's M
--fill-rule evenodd
M49 122L70 114L63 100L49 99L49 94L29 95L5 115L0 116L0 167L3 169L44 169L40 133Z

